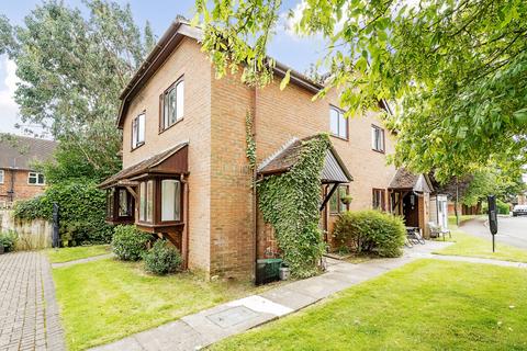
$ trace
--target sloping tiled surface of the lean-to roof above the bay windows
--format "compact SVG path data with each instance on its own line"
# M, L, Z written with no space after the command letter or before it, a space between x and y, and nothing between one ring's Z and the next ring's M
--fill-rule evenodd
M143 161L136 163L136 165L127 167L127 168L119 171L117 173L109 177L108 179L105 179L102 183L99 184L99 188L101 188L101 189L111 188L111 186L114 186L120 180L125 180L125 179L132 178L134 176L138 176L138 174L142 174L142 173L148 173L148 172L152 172L152 171L155 171L155 170L159 170L159 167L165 161L167 161L171 156L177 155L179 151L181 151L188 145L189 145L188 141L178 144L175 147L169 148L168 150L165 150L160 154L154 155L153 157L150 157L146 160L143 160ZM184 158L184 161L186 161L187 155L184 154L184 155L182 155L182 157ZM186 172L186 171L187 171L186 165L183 165L183 167L180 168L179 170L177 168L173 168L173 173Z

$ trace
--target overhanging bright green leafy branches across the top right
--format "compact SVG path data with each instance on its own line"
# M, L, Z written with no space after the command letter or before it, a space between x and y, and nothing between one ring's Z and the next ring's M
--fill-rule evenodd
M267 44L280 0L197 0L204 48L220 76L267 83ZM291 9L292 10L292 9ZM299 34L328 42L328 89L352 116L396 102L394 161L436 178L491 162L518 171L527 146L527 2L524 0L303 0ZM285 77L287 79L288 77Z

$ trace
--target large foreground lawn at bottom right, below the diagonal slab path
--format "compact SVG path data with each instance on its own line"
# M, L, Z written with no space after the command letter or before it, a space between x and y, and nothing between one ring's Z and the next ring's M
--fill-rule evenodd
M212 350L526 350L527 270L419 260Z

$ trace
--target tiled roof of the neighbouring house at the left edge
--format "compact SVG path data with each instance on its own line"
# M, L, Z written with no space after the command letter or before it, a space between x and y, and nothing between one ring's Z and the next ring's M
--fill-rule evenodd
M53 157L57 141L10 135L0 140L0 168L31 170L33 161L45 161Z

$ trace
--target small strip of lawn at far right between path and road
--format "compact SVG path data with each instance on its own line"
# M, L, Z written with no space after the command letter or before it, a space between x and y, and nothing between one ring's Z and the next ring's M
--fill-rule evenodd
M489 235L490 236L490 235ZM517 249L504 244L496 244L496 252L492 252L491 239L485 240L470 234L466 234L460 229L452 230L452 239L455 245L442 250L436 251L437 254L468 256L485 259L527 262L527 250Z

